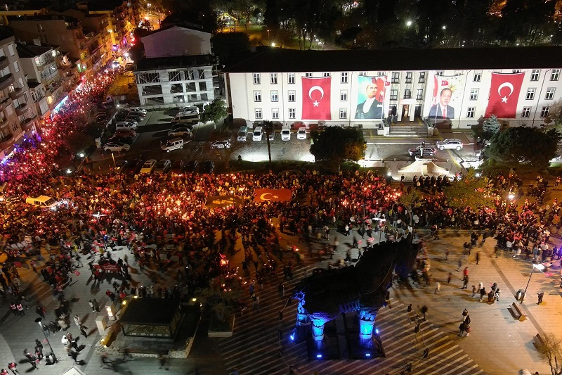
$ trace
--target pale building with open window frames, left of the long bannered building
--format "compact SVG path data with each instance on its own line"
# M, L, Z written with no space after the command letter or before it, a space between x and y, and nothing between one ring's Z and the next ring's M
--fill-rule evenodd
M181 107L214 101L211 34L171 26L143 37L135 82L141 106Z

